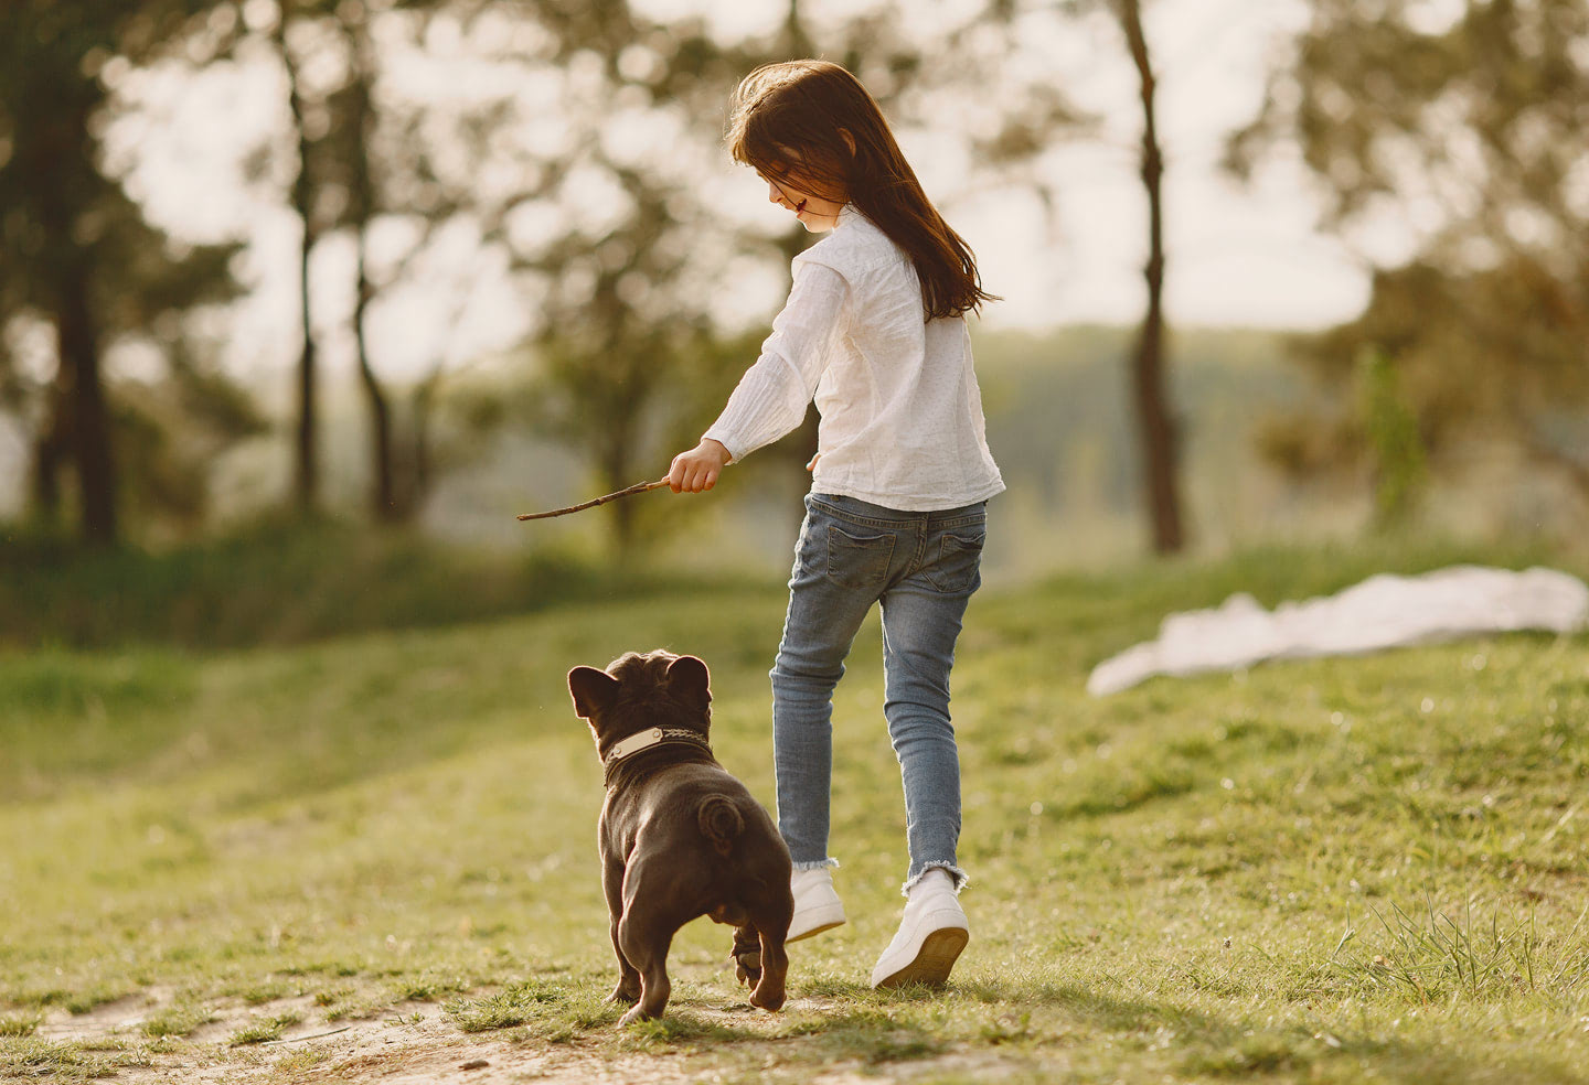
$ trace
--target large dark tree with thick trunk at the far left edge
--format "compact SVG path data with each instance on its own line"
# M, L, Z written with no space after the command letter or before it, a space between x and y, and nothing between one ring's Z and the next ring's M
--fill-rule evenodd
M56 373L37 389L43 407L33 411L33 496L46 518L57 516L59 470L70 461L79 531L95 545L119 535L105 348L232 289L230 248L172 251L102 173L94 135L108 98L102 73L118 57L156 56L211 8L199 0L0 8L0 327L32 315L52 329ZM210 37L224 38L224 25ZM13 373L8 383L16 397L22 381Z

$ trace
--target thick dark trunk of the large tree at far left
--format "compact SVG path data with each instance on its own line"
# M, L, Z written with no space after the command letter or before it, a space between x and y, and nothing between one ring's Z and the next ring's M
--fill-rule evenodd
M116 472L100 380L99 329L89 307L87 267L83 261L68 261L62 270L56 294L56 343L60 376L67 381L83 539L95 546L114 546Z

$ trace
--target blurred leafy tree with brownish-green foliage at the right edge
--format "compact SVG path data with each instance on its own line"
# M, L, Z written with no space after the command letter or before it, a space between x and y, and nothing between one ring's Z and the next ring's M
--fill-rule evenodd
M1589 499L1570 419L1589 407L1589 8L1581 0L1432 5L1317 0L1228 148L1251 175L1295 146L1325 222L1370 253L1367 310L1298 342L1333 410L1270 448L1298 473L1371 453L1349 389L1365 349L1395 367L1430 469L1498 442Z

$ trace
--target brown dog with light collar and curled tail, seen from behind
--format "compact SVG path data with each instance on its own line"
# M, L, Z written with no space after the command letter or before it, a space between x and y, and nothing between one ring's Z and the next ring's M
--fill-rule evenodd
M752 1006L783 1006L783 936L794 901L790 853L772 818L712 756L710 677L694 656L629 653L605 670L569 672L574 710L605 766L602 888L618 953L609 1001L621 1025L661 1017L667 947L698 915L733 923L736 972Z

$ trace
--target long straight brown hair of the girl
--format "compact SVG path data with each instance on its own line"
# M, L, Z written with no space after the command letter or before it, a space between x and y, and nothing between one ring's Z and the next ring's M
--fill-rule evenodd
M861 81L828 60L767 64L734 91L726 141L736 162L802 192L853 203L904 249L926 319L998 300L976 257L938 213Z

